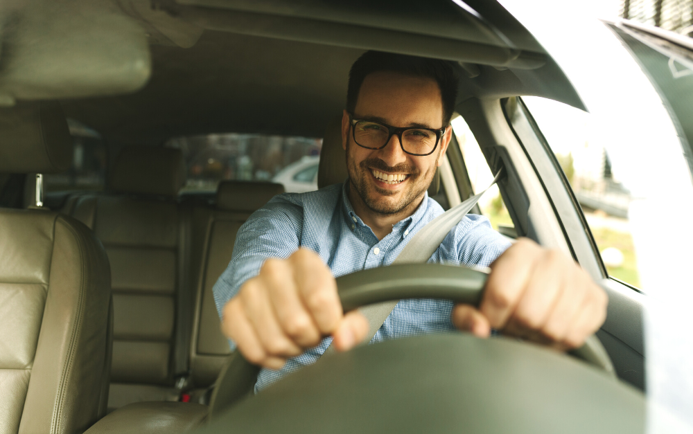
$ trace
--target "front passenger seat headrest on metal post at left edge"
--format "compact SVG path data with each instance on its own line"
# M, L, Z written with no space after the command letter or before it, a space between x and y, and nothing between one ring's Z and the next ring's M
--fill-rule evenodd
M72 137L59 102L0 109L0 172L58 173L72 163Z

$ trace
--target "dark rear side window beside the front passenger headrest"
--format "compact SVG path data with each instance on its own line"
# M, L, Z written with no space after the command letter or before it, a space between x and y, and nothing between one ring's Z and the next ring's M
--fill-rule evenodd
M44 191L101 191L106 174L106 147L98 132L68 119L73 138L72 166L67 172L44 174Z

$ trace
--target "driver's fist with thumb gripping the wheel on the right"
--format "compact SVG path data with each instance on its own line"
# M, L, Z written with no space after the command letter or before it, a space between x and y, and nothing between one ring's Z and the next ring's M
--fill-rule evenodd
M606 293L570 257L520 238L491 264L479 309L457 305L453 323L473 334L491 328L569 350L606 319Z

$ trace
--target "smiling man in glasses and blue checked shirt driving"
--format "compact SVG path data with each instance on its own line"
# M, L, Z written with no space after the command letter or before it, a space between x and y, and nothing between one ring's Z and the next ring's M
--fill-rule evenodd
M391 264L443 213L426 190L452 128L457 78L444 61L367 52L349 73L342 146L349 179L279 195L240 228L214 287L222 330L263 366L256 390L365 338L367 320L342 314L335 277ZM504 253L505 252L505 253ZM488 220L468 215L430 262L490 266L479 309L446 300L402 300L371 342L491 329L566 350L606 317L606 295L570 258L528 239L510 246Z

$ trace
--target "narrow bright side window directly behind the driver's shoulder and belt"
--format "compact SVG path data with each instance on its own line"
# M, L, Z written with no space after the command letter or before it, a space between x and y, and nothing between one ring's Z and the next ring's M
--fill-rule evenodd
M477 143L464 118L457 116L450 124L453 125L453 131L455 132L457 143L459 143L459 150L464 158L472 190L473 192L480 192L493 181L489 163L486 162L479 143ZM466 197L462 199L466 199ZM515 226L507 208L505 208L498 186L494 185L489 188L489 191L479 200L479 207L482 214L491 220L491 226L495 230L511 237L514 235Z

